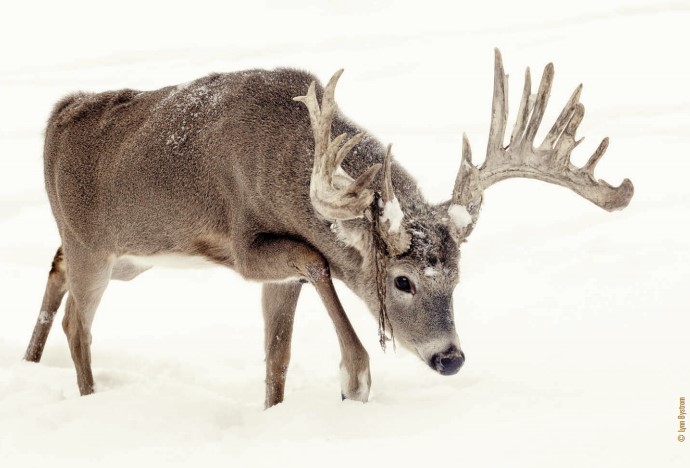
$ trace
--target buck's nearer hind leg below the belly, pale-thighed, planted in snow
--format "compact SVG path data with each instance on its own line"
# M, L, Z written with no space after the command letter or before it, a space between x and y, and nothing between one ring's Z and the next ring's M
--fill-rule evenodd
M101 296L108 285L114 260L107 254L81 249L65 250L69 296L62 328L77 371L82 395L93 393L91 372L91 324Z

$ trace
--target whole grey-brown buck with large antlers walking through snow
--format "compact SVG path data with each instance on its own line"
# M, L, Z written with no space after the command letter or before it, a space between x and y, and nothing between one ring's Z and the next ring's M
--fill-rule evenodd
M607 139L584 167L570 162L581 141L581 86L535 146L552 64L534 94L527 69L506 146L507 76L498 50L494 72L486 159L475 166L463 137L452 197L436 205L393 161L390 145L338 111L342 70L325 87L297 70L251 70L157 91L64 98L49 119L44 150L62 244L25 359L40 360L69 291L63 328L80 393L92 393L90 330L109 280L130 280L174 257L263 283L266 407L283 400L305 282L335 326L343 398L366 401L371 377L333 278L378 317L382 346L394 337L436 372L455 374L465 360L452 300L459 248L477 223L484 191L527 177L570 188L609 211L633 195L628 179L612 187L594 178Z

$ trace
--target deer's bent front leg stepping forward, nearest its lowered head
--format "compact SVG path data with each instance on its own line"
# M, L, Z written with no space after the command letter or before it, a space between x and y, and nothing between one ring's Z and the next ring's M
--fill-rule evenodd
M323 255L302 241L276 236L259 236L243 250L245 255L235 267L247 279L277 282L298 277L314 285L338 335L342 395L367 401L371 387L369 355L343 310ZM268 394L266 403L271 403Z

